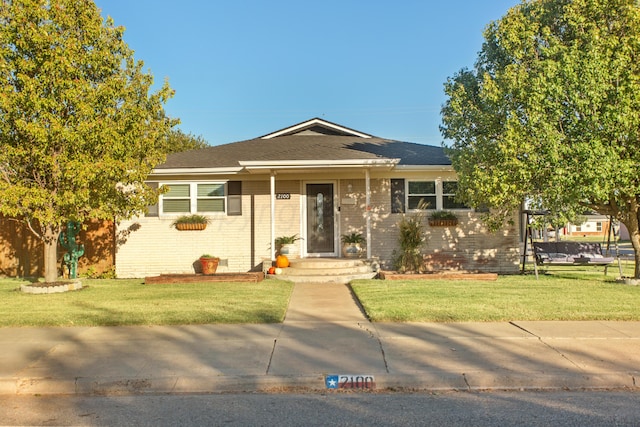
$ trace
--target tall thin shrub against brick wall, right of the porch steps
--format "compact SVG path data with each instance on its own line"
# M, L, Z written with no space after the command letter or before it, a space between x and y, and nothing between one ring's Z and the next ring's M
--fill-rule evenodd
M400 250L393 251L393 267L401 272L420 272L422 266L421 249L426 243L422 212L404 216L398 223L398 243Z

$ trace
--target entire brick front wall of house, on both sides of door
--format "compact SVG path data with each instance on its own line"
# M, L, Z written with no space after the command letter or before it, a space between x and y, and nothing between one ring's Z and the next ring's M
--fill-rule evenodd
M340 234L366 233L365 180L339 179L338 227ZM392 268L393 250L398 248L398 222L403 214L391 213L388 178L371 179L371 248L385 269ZM351 187L349 187L349 185ZM276 237L303 235L301 229L300 180L276 180ZM145 277L162 273L194 273L203 253L222 259L218 271L249 271L261 268L270 258L271 205L269 181L243 182L242 215L213 217L203 231L178 231L173 218L143 217L118 226L116 273L118 277ZM423 255L429 270L455 269L516 273L519 236L516 227L489 232L479 215L459 211L454 227L431 227L425 223L427 245ZM409 214L410 215L410 214ZM426 220L425 220L426 222ZM297 242L298 245L304 241Z

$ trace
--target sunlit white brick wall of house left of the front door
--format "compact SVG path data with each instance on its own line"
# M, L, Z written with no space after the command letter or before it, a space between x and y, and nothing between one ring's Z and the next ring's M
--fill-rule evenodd
M178 231L169 217L123 221L118 226L117 276L193 274L199 272L198 258L205 253L220 257L219 272L261 269L271 254L269 182L244 182L242 192L242 215L212 215L202 231ZM291 194L289 200L276 201L276 237L299 234L299 181L278 181L276 192Z

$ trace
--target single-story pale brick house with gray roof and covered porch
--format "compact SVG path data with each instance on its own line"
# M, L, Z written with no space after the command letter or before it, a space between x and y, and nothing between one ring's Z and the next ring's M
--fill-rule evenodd
M392 268L398 221L419 212L454 210L456 226L426 224L424 260L431 270L517 273L517 224L491 233L480 214L454 200L456 174L441 147L393 141L322 119L260 138L175 153L149 184L167 187L144 217L118 224L118 277L193 273L203 253L218 271L260 270L276 237L294 235L302 257L340 257L340 236L366 236L366 256ZM202 231L178 231L176 217L202 213Z

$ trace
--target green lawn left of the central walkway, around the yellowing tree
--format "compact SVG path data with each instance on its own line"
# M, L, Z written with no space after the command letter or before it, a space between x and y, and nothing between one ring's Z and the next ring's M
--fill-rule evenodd
M82 290L26 294L24 280L0 280L0 327L187 325L282 322L293 285L190 283L144 285L141 279L83 279Z

